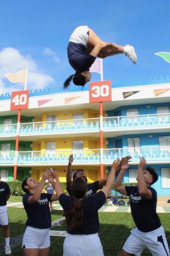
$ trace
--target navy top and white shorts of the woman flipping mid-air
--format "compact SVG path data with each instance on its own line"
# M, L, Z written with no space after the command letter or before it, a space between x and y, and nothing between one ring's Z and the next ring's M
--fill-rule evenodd
M76 72L88 71L96 57L87 52L89 31L87 26L77 27L67 47L69 63Z

